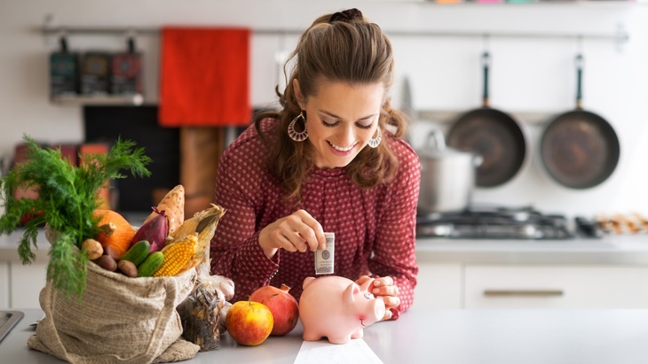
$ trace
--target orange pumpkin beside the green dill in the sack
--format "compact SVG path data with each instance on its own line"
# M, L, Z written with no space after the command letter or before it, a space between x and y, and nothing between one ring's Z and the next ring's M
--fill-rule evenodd
M97 209L94 215L101 217L96 240L104 247L111 247L121 257L129 250L135 229L121 214L113 210Z

